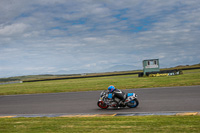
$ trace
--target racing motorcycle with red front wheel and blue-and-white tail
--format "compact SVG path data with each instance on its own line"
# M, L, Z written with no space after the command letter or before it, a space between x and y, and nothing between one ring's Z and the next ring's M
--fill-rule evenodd
M126 107L136 108L139 105L139 101L137 99L137 95L135 93L127 93L124 97L124 101L121 101L119 98L112 98L113 94L107 91L102 91L100 94L99 101L97 102L97 106L102 109L107 109L108 107Z

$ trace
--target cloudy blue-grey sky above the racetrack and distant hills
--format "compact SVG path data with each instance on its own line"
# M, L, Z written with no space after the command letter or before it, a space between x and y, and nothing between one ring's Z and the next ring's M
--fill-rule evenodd
M200 63L199 0L1 0L0 78Z

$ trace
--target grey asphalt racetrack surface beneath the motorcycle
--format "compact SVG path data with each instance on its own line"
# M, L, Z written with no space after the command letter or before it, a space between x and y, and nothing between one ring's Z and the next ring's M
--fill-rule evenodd
M200 111L200 86L126 89L140 102L137 108L100 109L101 91L0 96L0 115L8 114L114 114Z

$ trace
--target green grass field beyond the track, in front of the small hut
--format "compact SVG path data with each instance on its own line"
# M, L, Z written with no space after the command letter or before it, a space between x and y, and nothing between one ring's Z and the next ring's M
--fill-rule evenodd
M119 89L200 85L200 69L185 70L183 73L165 77L121 75L6 84L0 85L0 95L94 91L107 89L109 85Z

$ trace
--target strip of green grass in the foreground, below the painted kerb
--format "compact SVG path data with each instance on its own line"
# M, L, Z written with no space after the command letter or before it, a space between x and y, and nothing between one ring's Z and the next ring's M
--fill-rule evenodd
M0 132L200 132L200 116L0 118Z

